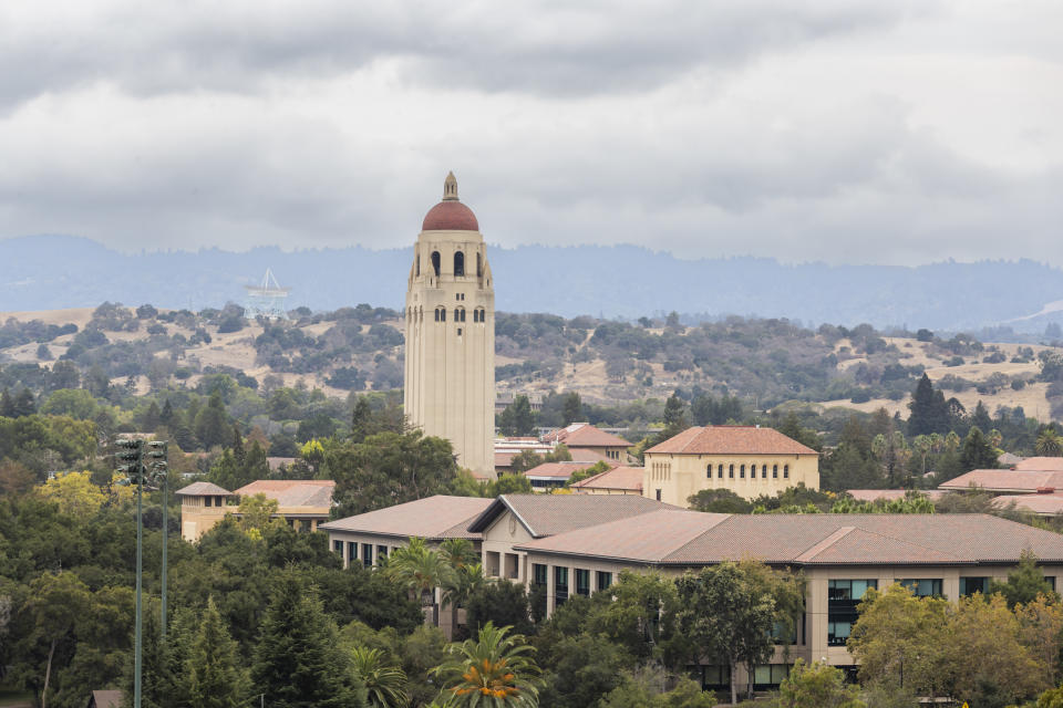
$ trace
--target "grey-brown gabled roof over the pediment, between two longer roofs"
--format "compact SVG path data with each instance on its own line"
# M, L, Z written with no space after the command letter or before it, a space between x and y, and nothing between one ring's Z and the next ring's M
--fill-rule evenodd
M535 538L630 519L658 509L679 509L634 494L503 494L469 524L483 532L503 512L512 511Z

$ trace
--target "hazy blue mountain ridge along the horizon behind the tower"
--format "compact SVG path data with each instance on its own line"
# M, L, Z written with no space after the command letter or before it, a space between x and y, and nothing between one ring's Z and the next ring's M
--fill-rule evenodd
M103 301L200 309L240 302L244 284L271 268L291 306L359 302L401 308L411 248L285 252L256 248L123 254L84 238L0 241L0 311L94 306ZM1063 271L1030 260L943 262L917 268L788 266L772 259L681 260L633 246L494 248L497 306L634 319L670 312L685 321L727 314L878 327L979 330L1007 323L1041 333L1063 322Z

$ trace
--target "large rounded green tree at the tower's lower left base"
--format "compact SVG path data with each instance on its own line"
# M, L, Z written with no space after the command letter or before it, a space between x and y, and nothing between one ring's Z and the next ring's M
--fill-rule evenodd
M420 430L337 446L326 467L336 480L333 519L447 493L457 478L451 444Z

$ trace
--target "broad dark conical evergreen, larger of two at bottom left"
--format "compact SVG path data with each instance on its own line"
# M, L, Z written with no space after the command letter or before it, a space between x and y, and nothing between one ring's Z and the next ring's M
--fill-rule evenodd
M262 618L251 674L256 690L277 708L364 706L364 688L353 678L350 657L338 643L317 589L295 571L276 581Z

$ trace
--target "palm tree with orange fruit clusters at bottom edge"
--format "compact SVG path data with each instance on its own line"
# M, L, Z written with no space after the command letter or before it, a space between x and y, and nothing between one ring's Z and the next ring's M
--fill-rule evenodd
M454 658L432 669L443 679L440 698L444 706L469 708L537 708L539 667L528 656L535 648L524 635L506 636L510 627L485 624L476 641L451 647Z

